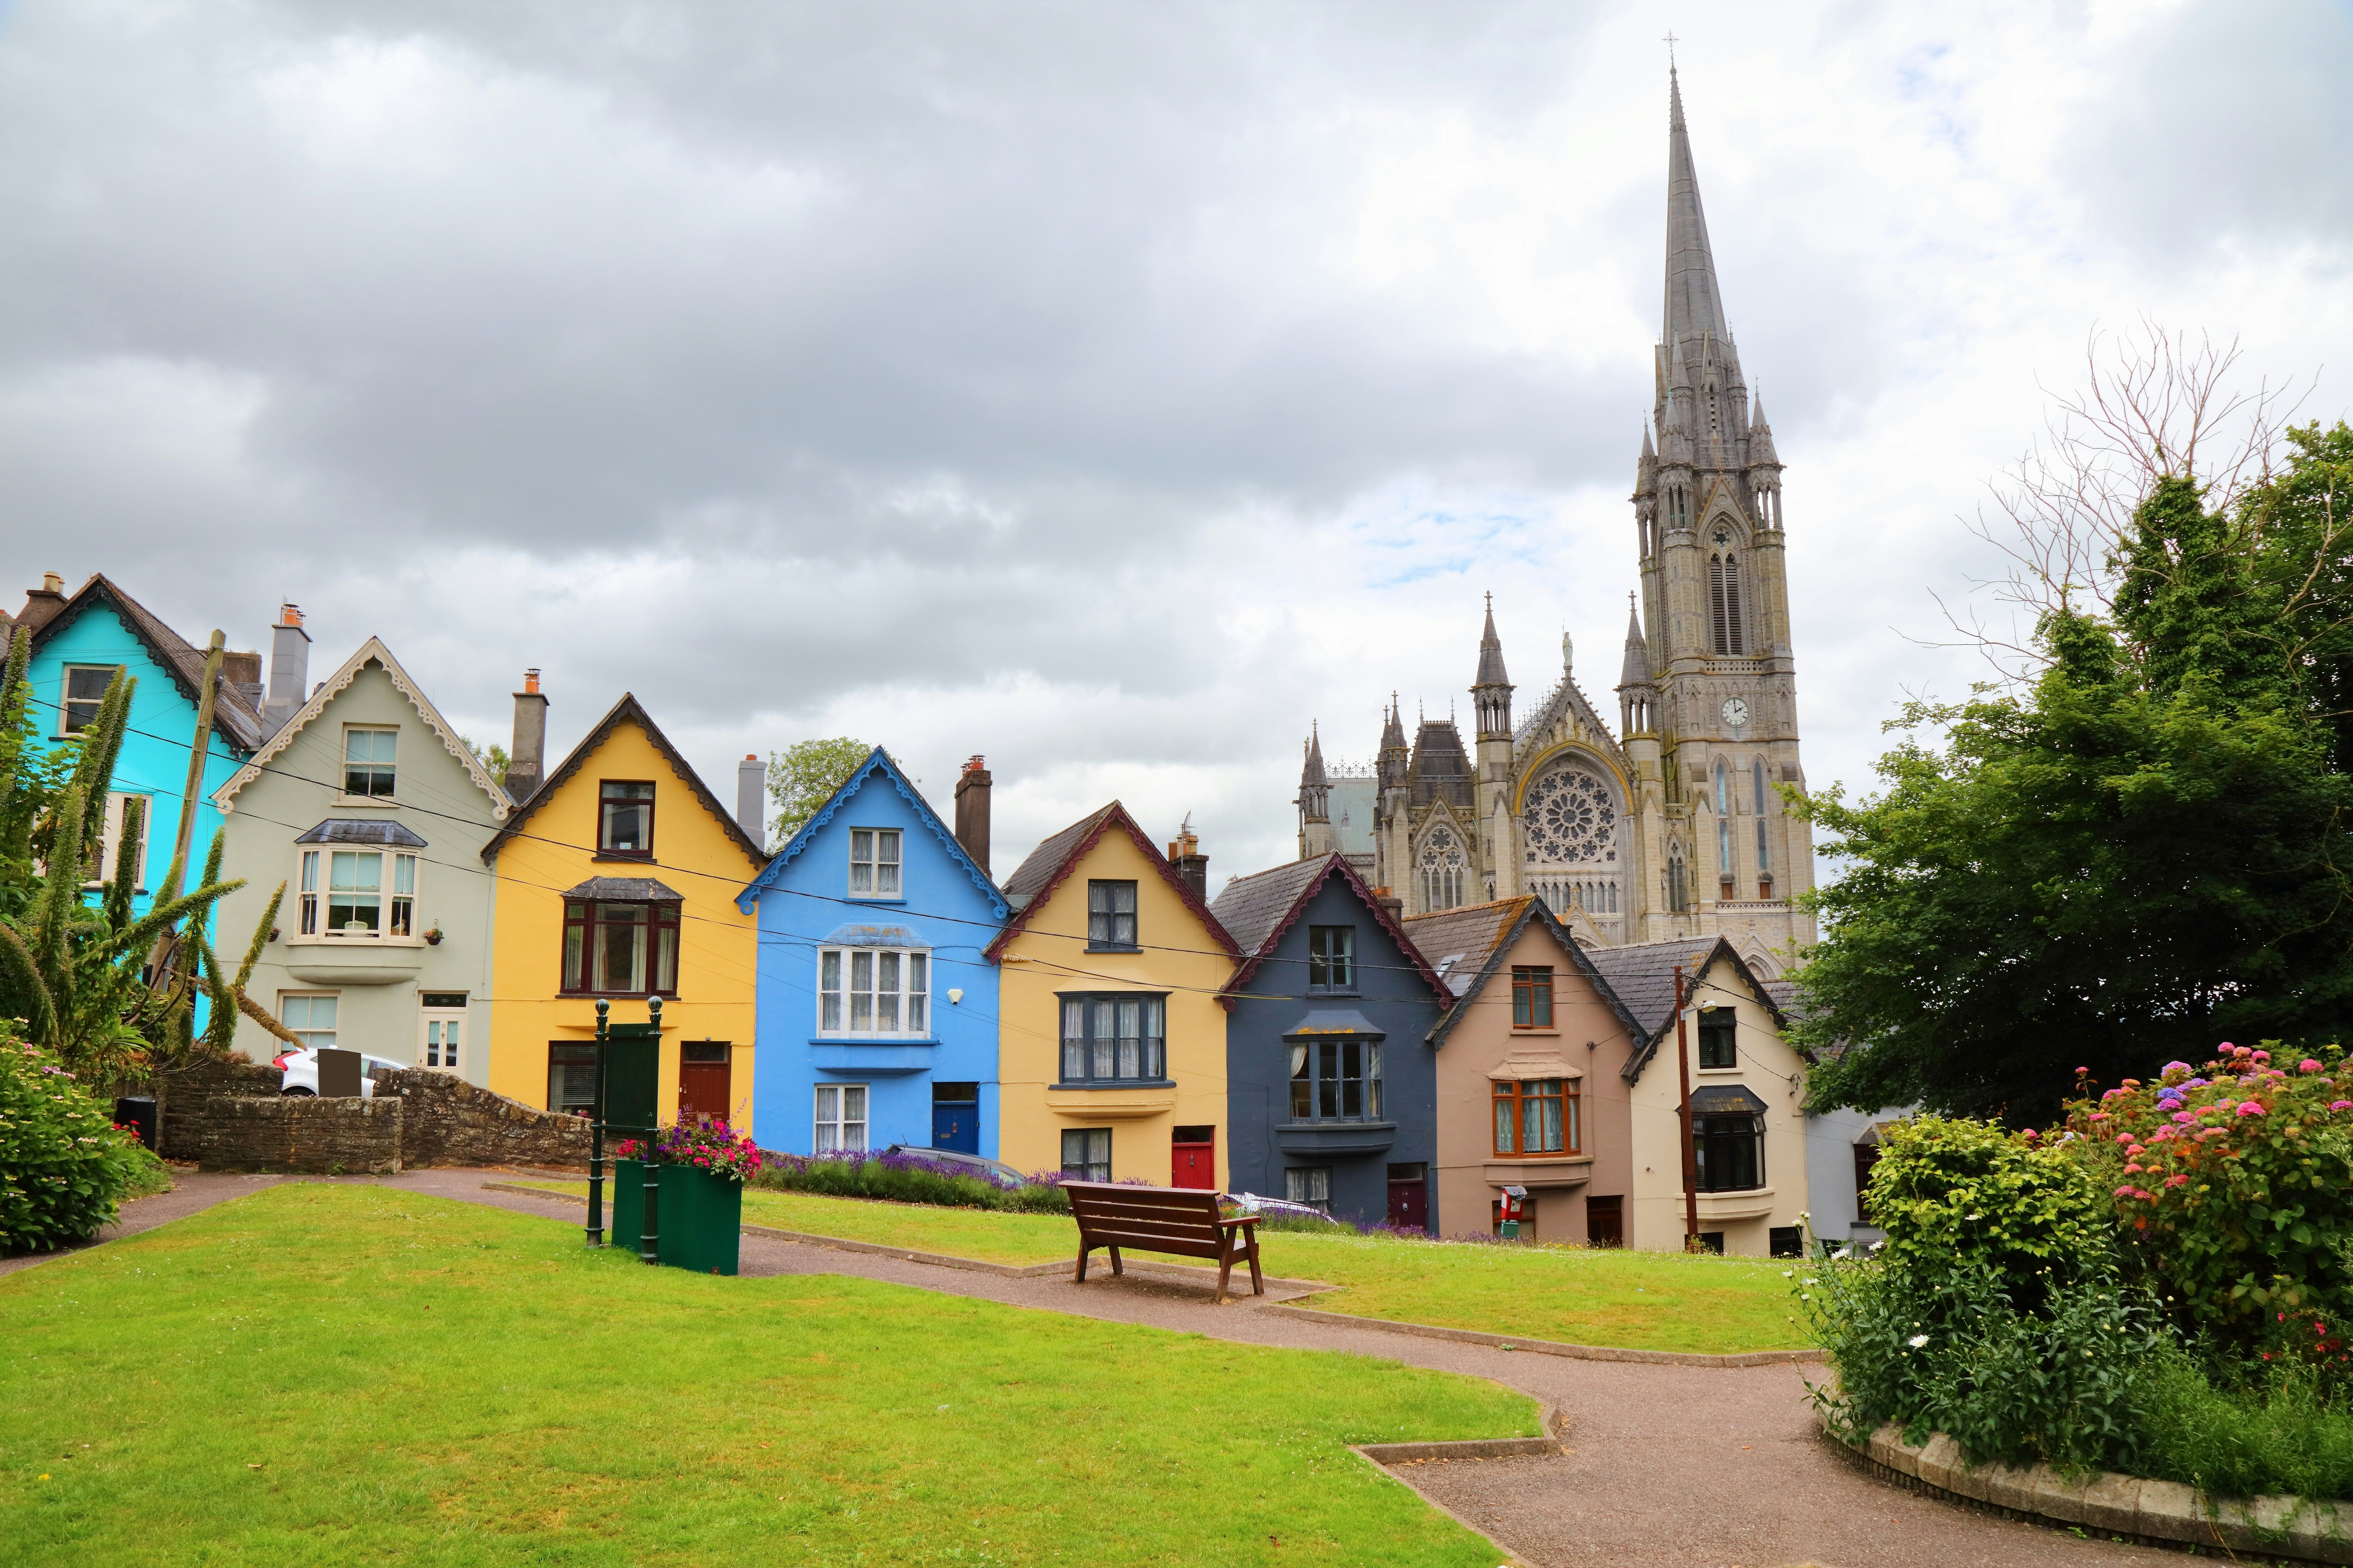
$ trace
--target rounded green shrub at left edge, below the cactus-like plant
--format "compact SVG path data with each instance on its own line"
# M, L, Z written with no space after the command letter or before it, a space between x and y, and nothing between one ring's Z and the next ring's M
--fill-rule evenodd
M0 1253L87 1241L136 1168L129 1135L56 1056L0 1023Z

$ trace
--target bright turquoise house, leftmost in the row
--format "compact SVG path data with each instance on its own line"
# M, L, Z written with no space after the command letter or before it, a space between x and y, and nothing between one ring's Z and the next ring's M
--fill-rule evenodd
M33 686L31 717L40 745L54 748L89 724L118 670L139 682L132 691L129 731L122 736L104 802L104 865L94 867L92 896L99 882L115 875L122 856L134 856L139 891L132 905L144 912L162 891L179 842L179 806L188 788L205 654L106 576L92 576L71 597L54 574L47 576L26 595L16 635L33 637L26 675ZM212 804L212 792L228 783L264 738L261 658L231 654L214 691L212 729L205 733L205 776L195 795L195 832L188 839L181 891L195 886L212 835L221 830L221 809ZM125 844L125 806L132 799L144 804L146 825L136 842ZM238 940L242 945L242 933Z

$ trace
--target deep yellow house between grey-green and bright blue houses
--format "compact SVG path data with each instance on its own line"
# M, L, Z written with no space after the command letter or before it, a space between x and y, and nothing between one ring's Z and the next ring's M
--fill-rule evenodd
M664 1119L720 1117L748 1133L760 954L734 896L767 865L762 844L635 696L522 795L544 731L536 684L534 672L515 693L518 804L482 846L496 886L489 1088L588 1110L595 1004L645 1023L659 994Z

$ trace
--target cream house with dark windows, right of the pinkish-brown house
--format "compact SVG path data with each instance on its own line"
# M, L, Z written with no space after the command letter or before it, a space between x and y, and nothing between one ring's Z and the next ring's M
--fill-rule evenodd
M1739 1258L1798 1255L1807 1211L1807 1060L1784 1039L1779 1004L1722 936L1600 947L1586 957L1638 1023L1619 1067L1633 1150L1626 1246L1685 1244L1678 1067L1685 1056L1701 1241Z

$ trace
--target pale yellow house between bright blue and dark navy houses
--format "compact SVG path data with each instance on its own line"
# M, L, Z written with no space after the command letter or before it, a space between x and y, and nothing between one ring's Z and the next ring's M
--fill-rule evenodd
M998 1157L1082 1180L1226 1187L1226 1006L1242 957L1111 802L1021 863L998 978Z

